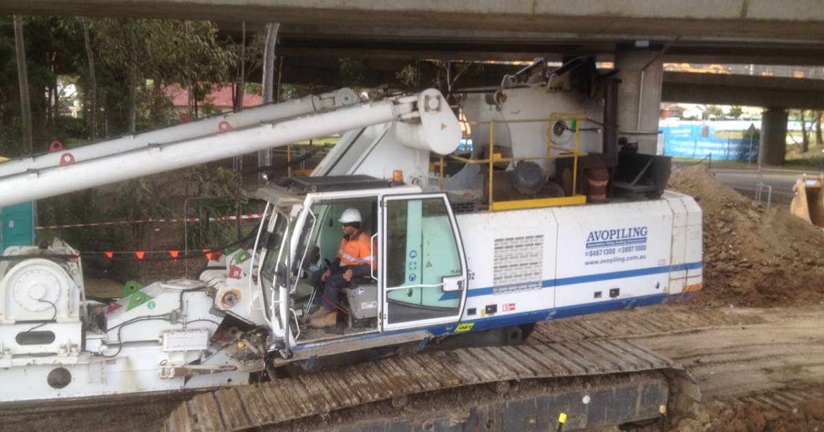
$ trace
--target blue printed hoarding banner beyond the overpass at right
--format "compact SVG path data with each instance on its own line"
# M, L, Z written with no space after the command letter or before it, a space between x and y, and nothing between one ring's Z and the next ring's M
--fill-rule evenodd
M664 155L689 159L702 159L712 155L714 160L758 160L759 137L715 137L717 130L732 132L747 128L720 129L712 123L678 124L661 126Z

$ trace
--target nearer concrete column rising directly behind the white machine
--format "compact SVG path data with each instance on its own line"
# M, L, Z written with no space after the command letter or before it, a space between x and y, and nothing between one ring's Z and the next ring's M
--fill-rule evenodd
M658 50L616 50L618 135L638 142L639 153L654 155L658 147L663 60ZM640 121L639 121L640 120Z

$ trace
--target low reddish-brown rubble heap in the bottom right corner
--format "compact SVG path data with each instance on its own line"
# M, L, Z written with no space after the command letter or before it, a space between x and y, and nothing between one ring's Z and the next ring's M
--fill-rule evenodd
M775 410L758 403L714 402L694 419L681 420L679 432L806 432L824 430L824 400Z

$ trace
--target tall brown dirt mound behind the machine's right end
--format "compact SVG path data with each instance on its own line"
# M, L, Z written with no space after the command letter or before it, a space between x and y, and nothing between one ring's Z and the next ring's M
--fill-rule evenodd
M720 183L704 165L672 173L668 188L704 210L702 304L772 306L824 300L824 231L767 209Z

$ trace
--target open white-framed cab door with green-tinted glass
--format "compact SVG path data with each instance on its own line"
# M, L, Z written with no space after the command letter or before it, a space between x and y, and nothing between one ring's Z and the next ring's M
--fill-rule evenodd
M382 197L382 330L454 323L466 303L466 256L443 193Z

